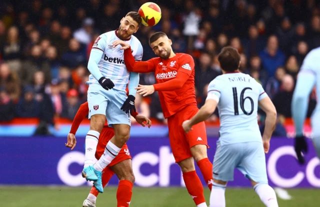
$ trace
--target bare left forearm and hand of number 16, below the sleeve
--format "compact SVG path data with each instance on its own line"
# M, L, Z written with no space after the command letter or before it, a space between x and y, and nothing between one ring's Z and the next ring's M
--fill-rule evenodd
M218 102L215 99L206 99L204 105L190 120L183 121L182 128L184 132L189 132L192 130L193 125L206 120L214 112L217 104Z

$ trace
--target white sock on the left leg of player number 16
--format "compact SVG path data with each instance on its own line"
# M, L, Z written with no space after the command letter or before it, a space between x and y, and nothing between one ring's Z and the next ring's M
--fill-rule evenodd
M225 192L226 185L213 182L210 193L210 207L225 207Z

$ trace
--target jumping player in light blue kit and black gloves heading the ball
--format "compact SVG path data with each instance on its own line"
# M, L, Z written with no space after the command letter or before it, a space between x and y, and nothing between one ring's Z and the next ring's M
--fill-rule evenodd
M136 90L130 89L126 96L125 87L130 83L138 84L138 73L128 72L124 64L123 50L113 48L112 42L122 39L131 45L135 60L142 58L140 41L132 34L138 29L141 17L137 12L128 12L120 20L120 26L115 31L101 34L95 40L88 60L89 88L87 93L90 118L90 130L85 137L85 161L82 176L93 180L94 186L103 192L101 171L119 153L123 144L129 138L130 115L135 110L134 95ZM129 83L129 84L130 84ZM122 110L123 109L123 110ZM105 153L94 163L94 153L99 134L105 122L114 128L114 136L105 147Z

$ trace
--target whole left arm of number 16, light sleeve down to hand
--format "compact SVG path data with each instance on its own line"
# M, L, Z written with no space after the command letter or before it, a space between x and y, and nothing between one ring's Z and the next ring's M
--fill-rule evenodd
M220 99L220 90L217 87L217 80L212 80L208 86L207 97L204 105L190 120L183 121L182 127L186 133L192 129L191 127L194 124L206 120L214 112Z

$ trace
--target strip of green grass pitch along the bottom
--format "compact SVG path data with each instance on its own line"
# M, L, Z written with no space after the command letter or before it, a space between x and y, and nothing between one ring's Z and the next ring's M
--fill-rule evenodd
M6 207L79 207L86 198L89 187L24 187L0 186L1 206ZM116 188L107 187L97 198L97 206L116 206ZM320 190L289 189L291 200L278 198L279 206L320 206ZM226 206L264 206L251 188L227 188ZM205 189L207 204L209 190ZM130 207L174 207L194 206L184 188L140 188L133 187Z

